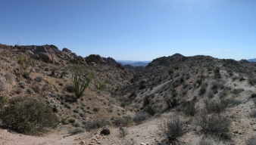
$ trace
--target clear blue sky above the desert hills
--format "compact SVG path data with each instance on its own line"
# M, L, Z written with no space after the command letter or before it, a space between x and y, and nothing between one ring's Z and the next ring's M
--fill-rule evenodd
M152 60L256 57L255 0L0 0L0 43Z

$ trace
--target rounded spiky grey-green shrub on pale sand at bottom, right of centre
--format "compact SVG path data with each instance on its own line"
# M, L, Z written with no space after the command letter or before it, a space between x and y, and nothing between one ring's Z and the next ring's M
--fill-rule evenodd
M185 123L178 117L171 117L160 125L161 132L167 139L167 143L176 144L180 137L186 133Z

